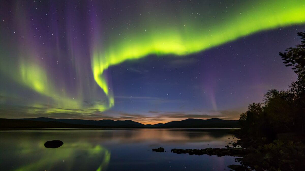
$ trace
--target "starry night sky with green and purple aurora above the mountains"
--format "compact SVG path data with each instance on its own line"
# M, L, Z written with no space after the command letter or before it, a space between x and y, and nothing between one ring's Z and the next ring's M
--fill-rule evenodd
M0 117L238 119L296 75L305 1L0 2Z

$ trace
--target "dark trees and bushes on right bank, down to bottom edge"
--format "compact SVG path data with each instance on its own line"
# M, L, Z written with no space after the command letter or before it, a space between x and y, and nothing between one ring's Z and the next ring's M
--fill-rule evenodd
M269 90L263 103L250 104L239 118L242 134L259 142L255 148L268 170L305 169L305 33L298 36L301 44L279 53L297 80L287 90Z

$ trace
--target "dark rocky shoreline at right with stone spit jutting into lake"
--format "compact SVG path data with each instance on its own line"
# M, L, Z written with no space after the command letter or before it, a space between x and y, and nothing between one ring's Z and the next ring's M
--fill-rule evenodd
M235 171L266 171L266 170L294 170L304 169L304 136L299 138L291 134L280 135L272 143L266 143L264 138L257 138L248 134L243 134L240 130L231 132L233 138L230 139L226 148L204 148L204 149L171 149L170 152L189 155L217 155L234 156L235 161L240 165L230 165L228 168ZM296 136L296 135L295 135ZM290 138L289 138L290 137ZM237 139L237 141L236 141ZM295 141L292 141L295 140ZM302 141L301 141L302 140ZM157 150L157 149L155 149Z

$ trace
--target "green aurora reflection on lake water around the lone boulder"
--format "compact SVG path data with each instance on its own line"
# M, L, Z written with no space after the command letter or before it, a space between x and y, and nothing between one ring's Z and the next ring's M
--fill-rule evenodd
M2 169L102 171L108 166L110 152L101 145L93 145L86 141L67 141L61 147L52 149L44 146L45 139L49 136L44 134L38 134L38 136L43 140L25 135L16 135L14 138L16 141L12 137L2 139L1 154L5 154L0 157L3 162L1 166L4 165L5 168L2 167Z

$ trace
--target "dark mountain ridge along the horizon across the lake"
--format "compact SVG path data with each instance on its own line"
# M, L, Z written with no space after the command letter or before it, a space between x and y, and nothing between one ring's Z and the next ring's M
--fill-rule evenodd
M49 117L0 119L0 128L234 128L238 120L185 119L165 124L141 124L132 120L55 119Z

